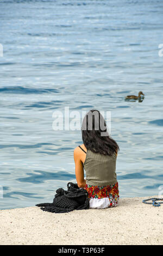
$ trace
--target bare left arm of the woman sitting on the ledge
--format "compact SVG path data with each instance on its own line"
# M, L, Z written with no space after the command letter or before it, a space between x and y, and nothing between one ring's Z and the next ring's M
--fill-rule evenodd
M81 159L81 149L77 147L74 149L74 162L76 165L76 180L78 187L85 187L86 180L84 179L84 169L83 169L83 162Z

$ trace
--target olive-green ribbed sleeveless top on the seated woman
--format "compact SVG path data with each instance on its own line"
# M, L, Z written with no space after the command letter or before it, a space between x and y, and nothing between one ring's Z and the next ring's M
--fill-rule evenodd
M86 172L86 184L93 186L115 184L117 182L116 159L116 153L108 156L87 150L83 164Z

